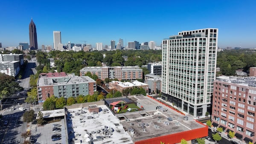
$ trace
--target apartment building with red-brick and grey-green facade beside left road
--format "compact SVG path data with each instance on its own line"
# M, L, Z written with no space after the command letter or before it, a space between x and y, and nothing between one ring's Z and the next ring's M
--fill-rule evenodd
M69 98L79 95L93 95L96 91L96 81L88 76L76 76L65 72L41 73L38 78L38 102L46 98Z

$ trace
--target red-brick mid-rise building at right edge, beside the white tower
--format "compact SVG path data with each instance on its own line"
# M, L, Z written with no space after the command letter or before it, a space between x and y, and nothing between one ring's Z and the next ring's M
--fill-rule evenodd
M212 125L236 138L256 142L256 77L221 76L214 81Z

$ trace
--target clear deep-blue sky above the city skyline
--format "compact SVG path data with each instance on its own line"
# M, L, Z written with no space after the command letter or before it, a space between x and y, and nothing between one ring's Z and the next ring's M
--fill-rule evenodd
M31 17L38 48L53 45L53 31L62 43L111 40L140 43L184 30L218 28L219 47L256 47L256 0L0 0L0 42L3 47L29 43Z

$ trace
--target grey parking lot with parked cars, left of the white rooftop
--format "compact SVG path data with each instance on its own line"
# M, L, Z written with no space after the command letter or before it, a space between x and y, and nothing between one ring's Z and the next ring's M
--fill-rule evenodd
M61 132L52 132L53 124L61 124ZM64 119L61 121L45 124L38 127L32 124L30 127L32 138L36 139L35 144L66 144ZM61 134L61 140L52 141L52 135Z

